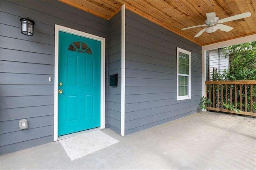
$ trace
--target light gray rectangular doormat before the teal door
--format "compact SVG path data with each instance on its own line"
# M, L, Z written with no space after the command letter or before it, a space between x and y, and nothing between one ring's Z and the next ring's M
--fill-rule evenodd
M72 161L118 142L118 140L100 130L78 134L74 137L60 140L60 143Z

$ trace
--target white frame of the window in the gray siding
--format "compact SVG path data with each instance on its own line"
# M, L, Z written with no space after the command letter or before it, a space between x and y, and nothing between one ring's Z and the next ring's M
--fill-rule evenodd
M188 56L189 56L188 75L179 73L179 52L188 54ZM187 51L185 49L181 49L179 47L177 47L177 72L176 73L177 73L176 74L177 75L177 77L176 77L176 81L177 81L176 100L179 101L179 100L191 99L191 52ZM186 95L186 96L179 96L179 75L188 77L188 95Z

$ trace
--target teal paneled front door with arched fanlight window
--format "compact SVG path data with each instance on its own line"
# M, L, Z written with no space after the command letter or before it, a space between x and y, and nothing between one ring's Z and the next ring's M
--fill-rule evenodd
M59 32L58 136L100 127L100 45Z

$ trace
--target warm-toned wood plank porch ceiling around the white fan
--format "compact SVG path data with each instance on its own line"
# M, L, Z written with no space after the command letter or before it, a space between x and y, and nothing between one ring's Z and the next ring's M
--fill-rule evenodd
M222 42L243 36L256 36L256 0L60 0L106 20L111 19L126 4L126 9L187 38L199 45ZM204 24L206 13L216 12L220 19L251 12L252 16L225 25L230 32L204 32L194 36L203 27L181 31L182 28Z

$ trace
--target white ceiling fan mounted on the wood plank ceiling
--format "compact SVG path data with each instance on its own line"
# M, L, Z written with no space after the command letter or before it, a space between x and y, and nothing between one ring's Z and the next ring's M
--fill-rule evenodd
M243 14L230 16L228 18L223 18L223 19L220 20L220 18L216 17L215 12L210 12L210 13L206 13L207 20L205 20L205 22L204 22L205 24L198 25L198 26L192 26L192 27L188 27L188 28L183 28L181 30L188 30L188 29L191 29L191 28L205 27L206 26L204 29L202 29L200 32L198 32L196 34L196 36L194 36L194 38L199 37L205 31L207 33L212 33L212 32L216 32L218 29L220 29L222 31L229 32L233 28L230 27L230 26L226 26L224 24L221 24L221 23L234 21L234 20L239 20L239 19L242 19L242 18L250 17L251 15L252 14L250 12L246 12L246 13L243 13Z

